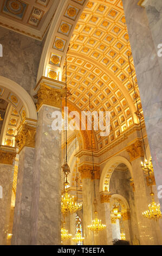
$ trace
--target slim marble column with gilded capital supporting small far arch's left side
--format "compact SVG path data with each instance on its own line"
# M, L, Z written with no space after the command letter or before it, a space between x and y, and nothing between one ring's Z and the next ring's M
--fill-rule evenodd
M113 233L111 223L111 212L109 199L111 198L110 192L100 193L100 219L106 225L106 229L100 232L100 245L112 245Z

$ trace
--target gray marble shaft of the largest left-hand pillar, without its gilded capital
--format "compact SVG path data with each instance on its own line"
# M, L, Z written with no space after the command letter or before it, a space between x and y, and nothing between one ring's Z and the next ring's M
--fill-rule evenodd
M61 132L51 128L52 113L39 109L35 138L33 204L31 209L31 244L61 244Z

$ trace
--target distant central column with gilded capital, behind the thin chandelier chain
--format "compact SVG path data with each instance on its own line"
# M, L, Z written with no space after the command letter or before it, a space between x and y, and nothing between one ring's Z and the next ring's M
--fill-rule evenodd
M93 215L93 184L92 184L92 169L93 167L87 164L82 164L79 167L82 179L82 199L83 199L83 226L85 245L94 245L93 231L88 229L88 225L92 224Z

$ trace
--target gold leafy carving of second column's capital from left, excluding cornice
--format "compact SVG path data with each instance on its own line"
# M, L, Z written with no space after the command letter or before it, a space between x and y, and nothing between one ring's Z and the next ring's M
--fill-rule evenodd
M30 126L28 124L23 124L20 131L18 131L17 136L15 136L16 145L19 149L19 152L23 147L35 147L35 133L36 127Z

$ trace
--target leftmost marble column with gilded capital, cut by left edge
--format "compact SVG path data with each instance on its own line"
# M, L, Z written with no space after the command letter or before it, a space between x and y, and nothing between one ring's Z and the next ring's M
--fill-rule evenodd
M0 245L7 244L16 149L0 147Z

